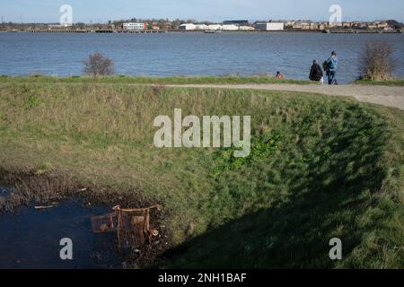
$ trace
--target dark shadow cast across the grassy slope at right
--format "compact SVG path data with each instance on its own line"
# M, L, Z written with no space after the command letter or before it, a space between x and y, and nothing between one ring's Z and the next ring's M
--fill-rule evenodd
M303 157L310 158L307 172L285 170L286 200L190 239L166 254L159 267L336 267L329 259L329 239L342 240L344 257L363 242L370 228L364 213L375 204L373 194L387 174L381 163L385 126L353 109L345 126L331 132L334 140L320 140L315 151L303 148Z

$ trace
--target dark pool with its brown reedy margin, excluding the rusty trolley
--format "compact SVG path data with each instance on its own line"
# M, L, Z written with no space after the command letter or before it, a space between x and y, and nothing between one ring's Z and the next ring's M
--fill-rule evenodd
M0 178L0 268L144 268L170 248L164 210L151 213L151 226L159 231L152 244L122 250L116 233L92 233L91 217L110 213L112 206L162 204L141 191L88 186L30 171L0 170ZM72 239L74 260L60 259L62 238Z

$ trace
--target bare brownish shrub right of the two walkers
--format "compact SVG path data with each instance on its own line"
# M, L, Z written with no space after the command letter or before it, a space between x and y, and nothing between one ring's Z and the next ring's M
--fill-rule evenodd
M362 52L359 71L361 78L372 81L389 80L396 68L394 49L383 41L367 42Z

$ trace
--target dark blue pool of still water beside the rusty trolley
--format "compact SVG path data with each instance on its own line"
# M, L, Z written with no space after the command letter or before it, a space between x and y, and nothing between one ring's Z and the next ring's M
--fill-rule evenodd
M0 196L8 194L9 190L0 188ZM91 216L109 212L109 207L72 200L44 210L31 206L0 213L0 269L119 268L114 234L91 230ZM73 241L73 260L59 257L63 238Z

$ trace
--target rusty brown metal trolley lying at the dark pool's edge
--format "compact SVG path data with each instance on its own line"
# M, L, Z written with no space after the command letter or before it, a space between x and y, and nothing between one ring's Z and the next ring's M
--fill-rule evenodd
M152 244L153 237L159 235L159 230L151 228L150 211L154 209L162 211L161 205L133 209L124 209L117 205L112 209L114 213L92 216L92 231L94 233L116 231L119 249L140 248L145 243Z

